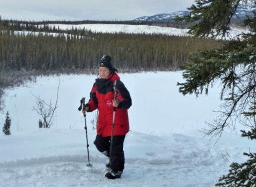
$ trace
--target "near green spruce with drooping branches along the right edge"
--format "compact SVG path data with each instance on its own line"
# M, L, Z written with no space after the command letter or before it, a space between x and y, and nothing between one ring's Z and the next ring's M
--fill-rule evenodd
M192 22L190 34L195 37L227 37L232 17L240 4L256 5L255 0L196 0L189 16L179 20ZM222 85L223 101L217 118L209 123L206 134L221 137L224 129L235 128L240 122L250 127L242 130L242 137L256 140L256 12L247 16L244 26L250 32L225 41L222 47L193 54L184 65L184 83L178 83L179 91L196 95L208 93L217 81ZM248 112L249 111L249 112ZM232 163L229 174L220 178L217 186L256 186L256 153L244 153L248 160Z

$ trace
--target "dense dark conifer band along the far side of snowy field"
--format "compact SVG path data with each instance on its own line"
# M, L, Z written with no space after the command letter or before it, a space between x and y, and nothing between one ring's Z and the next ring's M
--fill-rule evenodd
M210 39L155 34L86 32L84 36L51 36L2 31L0 69L91 70L97 69L103 54L109 54L117 69L174 70L187 62L190 52L218 46Z

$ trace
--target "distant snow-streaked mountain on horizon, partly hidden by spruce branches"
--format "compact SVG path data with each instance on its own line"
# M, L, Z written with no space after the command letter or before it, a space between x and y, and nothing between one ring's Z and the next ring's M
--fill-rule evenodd
M234 22L242 22L246 16L252 16L252 11L256 11L256 6L254 2L248 1L246 4L242 2L239 4L235 16L232 18ZM186 16L189 14L189 11L179 11L172 12L170 14L156 14L154 16L143 16L134 19L133 21L148 21L148 22L175 22L174 19L176 16Z

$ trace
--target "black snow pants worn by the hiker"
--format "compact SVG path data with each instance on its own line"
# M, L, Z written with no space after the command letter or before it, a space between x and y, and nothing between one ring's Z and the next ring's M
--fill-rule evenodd
M124 170L124 138L126 135L114 136L111 156L111 170L112 171L123 171ZM109 157L109 151L111 146L111 137L102 137L101 135L96 136L94 145L97 150Z

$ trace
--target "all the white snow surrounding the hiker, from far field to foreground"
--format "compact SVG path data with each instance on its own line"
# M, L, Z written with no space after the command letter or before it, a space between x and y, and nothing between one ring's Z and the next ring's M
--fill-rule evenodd
M216 138L209 141L200 132L219 107L218 85L207 97L196 98L179 93L182 72L119 75L132 97L121 179L104 177L107 159L93 145L94 113L86 118L93 165L86 166L84 117L77 108L81 97L89 98L96 75L61 75L6 90L0 123L9 110L12 135L0 134L0 186L214 186L232 161L244 161L244 151L256 151L255 143L239 132L227 130L216 144ZM54 103L59 80L53 126L39 129L31 93Z

